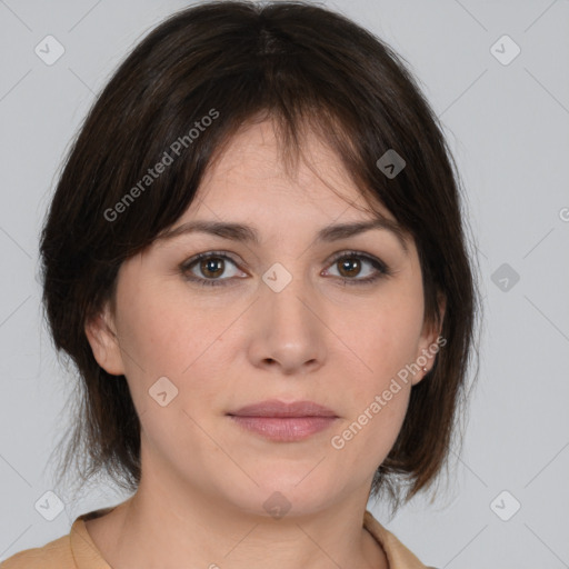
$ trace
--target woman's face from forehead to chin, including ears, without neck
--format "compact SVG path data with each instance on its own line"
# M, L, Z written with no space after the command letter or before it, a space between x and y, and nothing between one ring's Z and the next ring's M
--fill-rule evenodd
M172 229L238 223L258 242L189 230L154 241L122 264L114 312L88 329L99 363L127 378L142 478L162 493L264 516L366 502L425 375L406 366L433 362L413 242L386 228L317 239L373 217L339 159L316 138L308 148L323 181L303 162L287 177L269 122L236 136ZM211 257L189 262L198 253ZM267 400L332 417L230 415Z

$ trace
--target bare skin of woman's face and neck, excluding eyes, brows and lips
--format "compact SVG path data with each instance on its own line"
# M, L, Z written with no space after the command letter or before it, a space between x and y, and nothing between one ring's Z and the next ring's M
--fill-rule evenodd
M97 361L126 376L141 420L137 493L87 522L114 569L251 569L268 559L280 569L388 567L362 517L373 473L423 372L401 382L341 450L330 441L436 341L438 330L423 322L412 240L405 251L383 229L313 242L325 226L373 216L362 211L358 188L331 150L311 134L306 148L309 159L289 176L270 122L236 134L174 227L198 219L247 223L259 231L260 244L204 233L157 240L121 266L113 306L87 326ZM345 262L331 262L350 249L380 259L392 274L345 286L342 277L377 272L361 258L359 271L356 264L342 272ZM200 271L198 261L187 274L211 279L219 270L214 278L227 286L200 287L180 270L208 251L236 262L211 269L210 260ZM262 280L276 262L292 276L280 292ZM161 407L149 389L164 376L178 396ZM312 400L338 419L302 441L277 442L226 415L266 399ZM280 519L263 507L276 491L291 505Z

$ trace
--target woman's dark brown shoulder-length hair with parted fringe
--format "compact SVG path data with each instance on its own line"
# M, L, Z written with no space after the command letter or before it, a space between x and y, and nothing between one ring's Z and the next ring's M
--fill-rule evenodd
M370 208L382 203L412 237L425 320L447 341L411 389L370 496L398 508L448 466L478 298L459 176L436 114L402 58L342 14L313 2L214 1L174 13L134 47L62 164L40 242L46 318L79 375L60 476L74 463L82 483L106 472L138 488L139 418L124 377L94 360L86 323L112 302L121 263L190 207L231 137L269 119L291 168L306 134L316 133ZM388 150L406 161L396 177L377 164ZM167 167L151 176L159 162Z

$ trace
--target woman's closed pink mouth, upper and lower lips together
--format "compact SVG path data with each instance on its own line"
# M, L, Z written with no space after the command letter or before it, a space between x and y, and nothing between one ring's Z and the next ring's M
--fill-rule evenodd
M227 415L247 431L277 442L305 440L329 429L339 418L331 409L313 401L278 400L249 405Z

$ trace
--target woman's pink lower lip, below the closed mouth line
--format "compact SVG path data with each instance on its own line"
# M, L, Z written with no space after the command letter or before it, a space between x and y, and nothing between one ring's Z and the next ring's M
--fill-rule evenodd
M307 439L328 429L337 417L240 417L230 416L248 431L280 442Z

